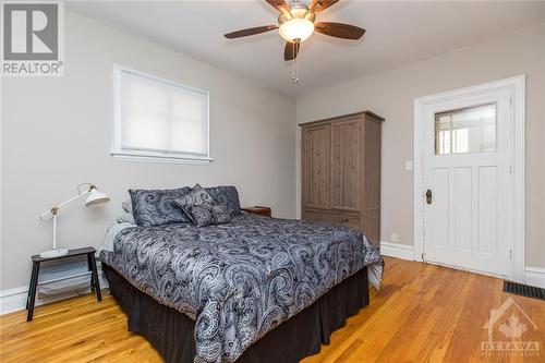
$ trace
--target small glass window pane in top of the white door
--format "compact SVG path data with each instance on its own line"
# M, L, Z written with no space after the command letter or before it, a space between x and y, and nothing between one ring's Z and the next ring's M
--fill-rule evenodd
M496 104L435 114L435 154L496 150Z

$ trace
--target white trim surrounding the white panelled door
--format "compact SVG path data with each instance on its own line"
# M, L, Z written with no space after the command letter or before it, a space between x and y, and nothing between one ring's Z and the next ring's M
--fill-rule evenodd
M510 278L524 283L524 107L526 75L488 82L471 87L458 88L414 99L414 261L423 262L424 251L424 180L423 180L423 133L424 109L426 106L456 99L461 96L475 96L491 90L507 89L512 95L512 173L513 195L513 244L512 270ZM506 251L507 253L507 251Z

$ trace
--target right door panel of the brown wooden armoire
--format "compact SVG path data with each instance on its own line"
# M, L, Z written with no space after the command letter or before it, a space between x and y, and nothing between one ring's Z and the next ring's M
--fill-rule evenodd
M361 122L360 118L331 123L330 207L360 210L361 204Z

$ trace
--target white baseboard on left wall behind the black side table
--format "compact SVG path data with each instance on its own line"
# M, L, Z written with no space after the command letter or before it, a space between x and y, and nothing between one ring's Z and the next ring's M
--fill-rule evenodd
M98 274L98 276L99 276L99 282L100 282L100 290L107 289L108 288L108 280L106 280L106 278L104 278L101 271ZM60 301L60 300L65 300L65 299L70 299L70 298L84 295L84 294L87 294L89 292L90 292L90 288L86 289L86 290L59 293L59 294L47 297L44 299L38 299L38 297L36 297L35 306L48 304L48 303ZM28 287L26 287L26 286L0 291L0 315L25 310L27 294L28 294Z

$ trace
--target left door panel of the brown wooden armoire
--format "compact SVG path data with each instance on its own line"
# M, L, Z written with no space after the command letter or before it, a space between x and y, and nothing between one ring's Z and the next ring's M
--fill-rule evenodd
M303 204L304 207L329 208L330 125L303 129Z

